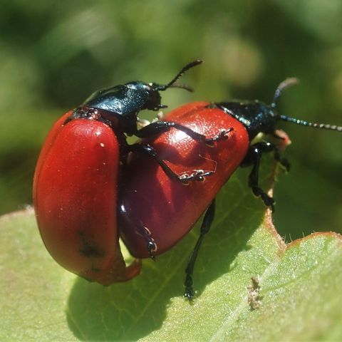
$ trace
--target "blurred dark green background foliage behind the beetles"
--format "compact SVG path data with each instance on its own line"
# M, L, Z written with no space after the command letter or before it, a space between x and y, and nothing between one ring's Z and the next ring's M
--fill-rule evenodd
M31 204L33 170L52 123L93 90L182 78L163 103L259 98L280 81L279 111L342 125L342 1L1 1L0 214ZM293 142L275 221L286 238L342 232L342 135L284 123ZM227 204L229 205L229 204Z

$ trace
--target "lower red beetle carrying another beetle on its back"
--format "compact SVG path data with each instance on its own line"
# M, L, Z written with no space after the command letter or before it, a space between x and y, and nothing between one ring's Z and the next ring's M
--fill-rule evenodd
M187 187L175 182L155 163L133 155L125 172L125 192L120 201L118 222L120 236L134 257L146 258L162 254L190 231L203 212L199 239L186 269L185 296L192 299L192 271L204 234L214 219L214 197L239 166L252 166L249 186L267 207L274 209L274 199L259 187L259 162L264 152L274 152L274 158L286 169L289 163L280 157L278 148L270 142L251 145L259 134L276 135L279 120L326 128L341 132L341 127L308 123L279 115L275 111L281 90L294 84L289 78L279 85L271 105L259 101L232 101L226 103L190 103L172 110L165 120L185 125L215 140L217 131L224 132L225 140L214 147L177 130L170 130L154 139L142 140L154 147L178 174L186 170L212 172L203 183L191 182ZM279 137L280 138L280 137Z

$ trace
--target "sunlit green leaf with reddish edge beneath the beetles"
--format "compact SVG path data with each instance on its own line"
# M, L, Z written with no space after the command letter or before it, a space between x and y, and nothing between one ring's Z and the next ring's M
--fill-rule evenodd
M198 227L157 262L145 260L137 278L105 288L51 259L32 209L1 217L0 340L341 339L341 236L311 234L286 246L246 177L239 170L219 194L192 305L182 281Z

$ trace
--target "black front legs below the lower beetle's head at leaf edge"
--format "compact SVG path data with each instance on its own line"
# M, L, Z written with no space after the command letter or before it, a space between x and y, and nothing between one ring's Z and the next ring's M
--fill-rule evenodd
M260 160L263 153L274 152L274 159L283 165L286 170L289 170L290 164L285 158L281 158L280 153L276 145L271 144L271 142L257 142L249 147L246 157L244 158L241 166L245 167L252 165L252 171L249 174L249 187L252 188L252 192L255 196L261 197L262 201L266 207L271 207L272 212L274 212L274 199L269 197L269 195L264 192L264 190L259 187L259 167Z

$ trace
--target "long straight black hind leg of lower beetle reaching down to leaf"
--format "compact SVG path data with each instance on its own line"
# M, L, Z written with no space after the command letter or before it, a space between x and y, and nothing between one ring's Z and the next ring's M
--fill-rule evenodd
M215 216L215 199L212 200L211 204L209 205L207 211L204 214L204 219L202 222L199 237L195 244L195 248L192 251L189 262L187 263L187 268L185 269L184 296L187 299L189 299L189 301L192 301L193 296L195 296L194 289L192 289L192 284L193 284L192 274L194 273L194 266L195 266L195 261L197 259L199 247L201 247L204 235L207 234L207 232L209 232L210 226L212 225L212 221L214 220L214 216Z

